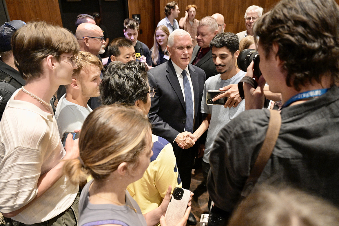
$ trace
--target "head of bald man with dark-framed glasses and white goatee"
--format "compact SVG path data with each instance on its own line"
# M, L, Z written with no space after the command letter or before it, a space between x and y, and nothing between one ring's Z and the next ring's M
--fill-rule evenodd
M105 53L104 34L99 26L92 23L79 24L75 33L80 45L80 50L95 56Z

